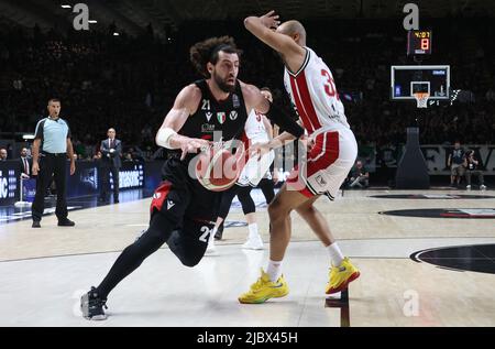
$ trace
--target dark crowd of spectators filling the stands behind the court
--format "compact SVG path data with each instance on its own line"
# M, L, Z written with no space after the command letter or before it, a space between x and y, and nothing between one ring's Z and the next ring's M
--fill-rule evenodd
M308 21L308 46L327 62L362 149L405 142L418 124L420 141L487 144L495 140L494 26L490 20L424 22L433 30L433 55L425 64L450 64L460 100L418 113L413 102L389 99L389 66L414 64L406 56L400 21ZM329 30L321 30L321 28ZM208 30L206 30L208 29ZM491 32L491 35L487 35ZM124 156L151 159L155 131L182 87L200 78L188 59L195 42L229 34L244 51L240 79L274 90L287 111L279 58L237 22L188 22L170 40L151 26L138 37L107 32L59 33L13 28L0 34L0 138L34 133L46 101L62 100L78 159L97 156L109 127L117 129Z

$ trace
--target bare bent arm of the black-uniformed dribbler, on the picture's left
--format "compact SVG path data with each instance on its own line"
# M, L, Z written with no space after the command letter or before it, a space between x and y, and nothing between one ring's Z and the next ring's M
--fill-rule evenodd
M156 144L167 149L183 150L184 159L187 153L196 152L200 148L209 146L207 140L191 139L177 132L186 123L187 118L194 114L201 99L201 91L195 85L185 87L175 99L174 106L165 117L162 127L156 133Z

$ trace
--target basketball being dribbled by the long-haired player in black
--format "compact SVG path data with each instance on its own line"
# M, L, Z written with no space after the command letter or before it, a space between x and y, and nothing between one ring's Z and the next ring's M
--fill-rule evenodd
M211 148L201 152L195 166L199 183L211 192L223 192L232 187L242 171L243 150L235 154L228 149Z

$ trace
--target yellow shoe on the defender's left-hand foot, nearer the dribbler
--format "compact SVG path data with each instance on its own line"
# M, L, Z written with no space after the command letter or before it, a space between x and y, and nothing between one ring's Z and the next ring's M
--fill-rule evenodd
M288 294L287 282L284 275L278 277L276 282L270 281L268 274L262 269L260 279L251 285L250 291L239 297L239 302L244 304L260 304L270 298L279 298Z

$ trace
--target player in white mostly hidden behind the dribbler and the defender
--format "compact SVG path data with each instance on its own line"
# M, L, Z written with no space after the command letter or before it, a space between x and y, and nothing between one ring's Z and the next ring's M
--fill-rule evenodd
M270 102L273 102L272 91L268 88L262 88L261 94L270 100ZM244 134L244 142L246 143L245 146L248 149L252 144L271 141L273 139L273 127L265 114L252 109L245 121ZM274 157L274 151L267 152L260 159L257 156L251 156L244 165L235 186L222 193L218 218L215 223L213 232L210 235L208 241L207 254L217 252L215 247L215 236L217 235L219 227L226 220L235 195L242 205L249 230L248 240L242 248L246 250L263 250L263 240L260 236L256 222L256 206L251 197L251 189L260 186L265 196L266 204L270 204L273 200L275 193L274 183L270 175L270 166L272 165ZM277 170L274 168L274 171Z

